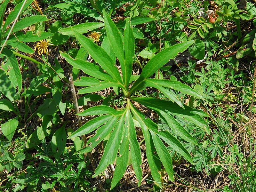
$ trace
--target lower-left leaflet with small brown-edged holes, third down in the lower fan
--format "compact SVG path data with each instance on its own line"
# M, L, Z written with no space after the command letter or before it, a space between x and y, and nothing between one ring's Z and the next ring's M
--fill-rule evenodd
M88 146L80 149L76 153L88 153L94 147L96 147L113 130L113 127L116 126L118 119L119 117L113 117L105 125L102 125L99 129L97 129L95 135L93 137L90 137L90 139L87 141Z

